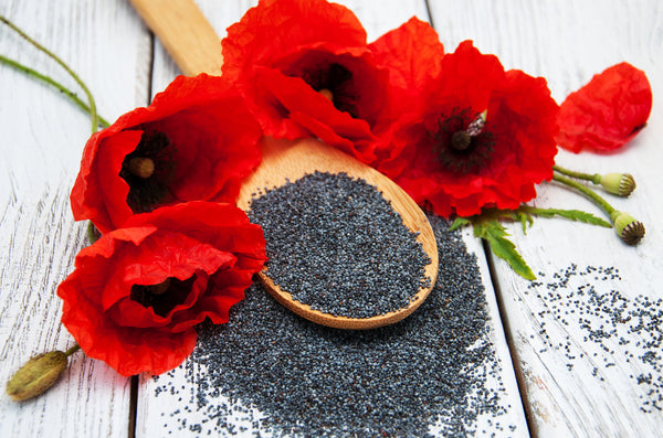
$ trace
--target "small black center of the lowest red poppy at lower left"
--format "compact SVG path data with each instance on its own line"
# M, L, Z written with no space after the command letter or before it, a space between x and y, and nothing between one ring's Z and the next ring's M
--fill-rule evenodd
M166 317L177 305L185 302L193 281L196 276L187 280L168 277L158 285L134 285L130 298L145 308L151 307L159 317Z

